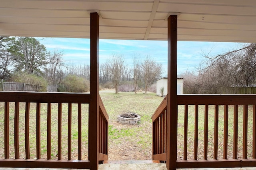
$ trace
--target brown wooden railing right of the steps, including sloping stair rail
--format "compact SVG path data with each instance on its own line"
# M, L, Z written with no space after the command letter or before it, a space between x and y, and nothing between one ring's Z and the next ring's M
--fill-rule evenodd
M178 111L178 115L184 117L182 120L182 123L179 122L179 124L184 127L184 134L181 135L181 137L184 139L183 143L183 160L176 160L176 168L221 168L221 167L256 167L256 95L255 94L244 94L244 95L226 95L226 94L214 94L214 95L177 95L177 104L181 110L184 110L182 112ZM170 152L169 150L166 150L166 131L169 131L170 129L166 129L166 124L164 123L166 121L166 118L168 117L168 114L166 114L167 110L167 101L166 98L162 101L160 106L156 109L155 113L152 115L152 130L153 130L153 137L152 137L152 147L153 147L153 160L166 160L166 153ZM171 105L171 103L170 103ZM194 106L194 109L193 107ZM203 144L198 143L198 112L199 107L198 106L204 106L204 128L203 128ZM212 107L212 106L214 107ZM231 109L229 109L230 105L234 106L234 109L232 109L232 113L230 112ZM250 106L252 105L252 106ZM223 107L222 110L224 112L224 116L219 116L219 106ZM182 108L184 107L184 109ZM201 106L200 106L201 107ZM250 107L250 109L249 109ZM214 116L210 116L210 108L214 109ZM238 115L240 112L243 114L243 123L242 125L239 125L238 121ZM192 115L191 115L192 113ZM201 112L199 112L201 113ZM181 115L184 114L184 115ZM190 115L188 115L190 114ZM191 122L188 122L188 117L191 118L194 114L194 122L191 124ZM228 119L229 115L232 114L232 117L234 117L233 120L233 126L229 126ZM250 119L252 119L252 123L248 123L248 117L250 115ZM209 119L214 119L214 128L213 130L209 129ZM221 120L222 119L222 120ZM224 122L223 126L223 132L219 132L219 122ZM176 126L178 126L178 122L172 122L176 123ZM188 127L194 126L194 134L188 133ZM238 126L241 126L243 130L243 147L240 147L240 152L242 149L242 159L238 156ZM193 127L192 127L193 128ZM221 127L223 128L223 127ZM230 129L232 128L232 129ZM166 131L165 131L166 129ZM252 129L252 139L248 137L248 129ZM202 130L202 129L201 129ZM233 152L232 152L232 159L230 159L231 155L228 155L228 133L229 131L233 131ZM213 152L213 157L209 156L209 150L208 150L208 131L214 132L214 139L211 146L213 146L213 151L210 149L210 152ZM223 141L220 141L218 139L219 135L223 134ZM192 135L192 136L191 136ZM188 139L194 138L194 152L193 150L190 151L194 154L194 158L191 159L191 153L190 157L188 157ZM170 140L170 139L169 139ZM182 139L181 139L182 140ZM247 149L249 147L248 143L252 143L252 155L248 155ZM218 151L220 148L218 148L218 143L223 143L223 158L220 159L218 156ZM209 145L210 146L210 145ZM198 149L203 149L203 159L198 159ZM179 149L181 150L181 149ZM191 149L190 149L191 150ZM180 152L180 151L179 151ZM176 153L177 154L177 153ZM172 156L172 155L170 155ZM210 158L210 159L208 159Z

